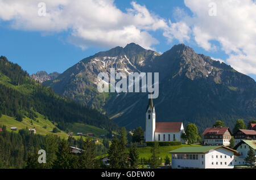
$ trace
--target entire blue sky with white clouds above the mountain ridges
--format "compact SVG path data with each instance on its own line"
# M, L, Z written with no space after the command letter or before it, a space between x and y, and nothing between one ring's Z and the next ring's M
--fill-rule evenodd
M256 79L254 0L0 0L0 55L29 74L64 72L135 42L164 53L184 43Z

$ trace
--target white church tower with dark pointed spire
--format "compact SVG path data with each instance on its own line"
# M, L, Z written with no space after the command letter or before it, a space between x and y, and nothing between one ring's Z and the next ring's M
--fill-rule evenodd
M152 98L149 99L146 111L145 141L155 141L155 107Z

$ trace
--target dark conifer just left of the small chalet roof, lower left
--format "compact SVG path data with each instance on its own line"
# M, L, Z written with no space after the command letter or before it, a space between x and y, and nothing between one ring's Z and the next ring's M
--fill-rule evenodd
M56 160L53 162L55 169L71 168L71 155L69 153L68 142L64 139L60 140L58 150L56 152Z

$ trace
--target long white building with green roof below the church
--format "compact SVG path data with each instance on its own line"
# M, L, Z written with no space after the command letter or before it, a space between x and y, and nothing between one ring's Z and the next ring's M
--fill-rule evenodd
M181 147L170 151L172 168L228 169L234 168L236 150L221 146Z

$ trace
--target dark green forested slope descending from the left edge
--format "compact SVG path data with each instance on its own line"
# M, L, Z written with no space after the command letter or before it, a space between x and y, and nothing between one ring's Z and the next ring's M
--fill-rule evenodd
M35 82L19 65L3 56L0 57L0 117L2 114L20 122L28 118L35 122L39 118L40 121L49 120L63 131L67 131L74 123L109 131L119 128L96 109L60 97L51 88Z

